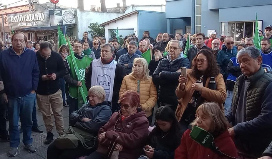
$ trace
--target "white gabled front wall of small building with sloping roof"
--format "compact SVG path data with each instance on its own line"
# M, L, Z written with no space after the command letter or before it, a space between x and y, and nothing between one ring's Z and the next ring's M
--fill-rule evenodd
M138 15L137 13L132 14L130 16L126 16L122 19L118 19L116 22L111 22L105 25L105 38L108 40L110 37L110 30L111 29L117 29L118 27L118 32L121 35L121 31L119 29L133 29L134 33L138 37ZM123 35L127 36L127 35Z

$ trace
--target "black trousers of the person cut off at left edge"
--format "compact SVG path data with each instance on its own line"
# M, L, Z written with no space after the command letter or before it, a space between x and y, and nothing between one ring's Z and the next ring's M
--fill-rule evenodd
M6 108L7 103L0 101L0 136L3 137L8 135L8 131L6 130Z

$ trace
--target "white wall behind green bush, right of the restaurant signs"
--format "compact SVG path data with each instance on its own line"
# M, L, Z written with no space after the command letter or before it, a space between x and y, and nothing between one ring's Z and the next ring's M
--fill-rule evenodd
M124 13L107 13L107 12L95 12L95 11L79 11L77 9L77 28L78 28L78 39L81 40L83 37L83 32L89 31L88 26L90 23L98 24L104 23L111 19L115 19L119 16L124 15ZM74 34L75 35L75 34ZM92 39L89 34L89 39ZM107 38L108 39L108 38Z

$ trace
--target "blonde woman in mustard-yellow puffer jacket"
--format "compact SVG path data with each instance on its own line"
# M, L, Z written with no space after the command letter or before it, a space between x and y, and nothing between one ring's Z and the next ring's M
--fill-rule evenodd
M141 108L145 110L147 119L151 125L152 108L157 102L157 90L148 72L146 59L135 58L133 60L132 72L125 76L122 81L119 97L127 90L137 91L140 94Z

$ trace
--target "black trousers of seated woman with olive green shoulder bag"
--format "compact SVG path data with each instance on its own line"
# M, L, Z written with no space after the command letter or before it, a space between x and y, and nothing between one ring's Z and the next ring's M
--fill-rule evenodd
M97 147L94 147L93 149L86 149L81 144L79 144L75 149L61 150L58 149L55 146L55 142L53 142L47 148L47 159L76 159L80 156L88 156L96 149Z

